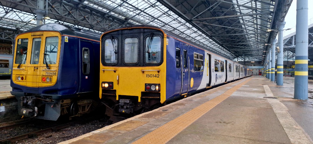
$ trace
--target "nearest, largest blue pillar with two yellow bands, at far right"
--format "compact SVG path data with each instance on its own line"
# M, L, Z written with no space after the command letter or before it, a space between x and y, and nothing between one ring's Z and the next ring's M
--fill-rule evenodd
M294 98L308 99L308 0L297 0Z

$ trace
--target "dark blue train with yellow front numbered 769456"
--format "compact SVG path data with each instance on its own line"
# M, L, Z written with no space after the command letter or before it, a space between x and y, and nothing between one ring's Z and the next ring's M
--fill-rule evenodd
M57 120L99 101L100 35L49 23L15 39L11 94L19 115Z

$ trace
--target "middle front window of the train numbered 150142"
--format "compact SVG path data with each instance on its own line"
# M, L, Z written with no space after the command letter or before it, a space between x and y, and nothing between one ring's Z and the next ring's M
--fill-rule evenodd
M137 63L138 62L138 38L131 37L124 40L124 62Z

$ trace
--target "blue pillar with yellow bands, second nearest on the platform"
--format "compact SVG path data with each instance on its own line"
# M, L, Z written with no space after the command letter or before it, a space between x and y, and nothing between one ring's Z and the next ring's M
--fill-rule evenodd
M286 22L277 22L278 26L278 47L277 50L277 85L283 85L283 77L284 77L284 27Z

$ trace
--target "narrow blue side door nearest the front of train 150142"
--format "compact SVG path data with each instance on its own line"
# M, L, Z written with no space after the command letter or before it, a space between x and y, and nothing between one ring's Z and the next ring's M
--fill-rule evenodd
M188 46L182 44L182 92L181 95L185 95L189 89L189 57Z

